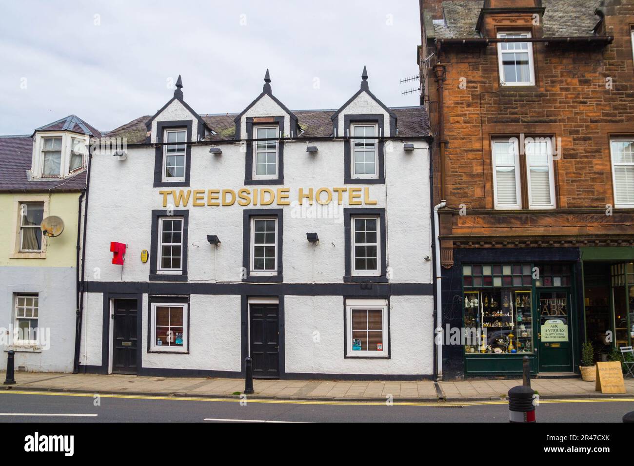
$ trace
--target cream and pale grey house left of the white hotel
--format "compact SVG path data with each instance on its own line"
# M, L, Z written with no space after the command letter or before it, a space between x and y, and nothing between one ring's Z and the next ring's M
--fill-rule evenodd
M89 138L100 133L68 117L33 134L0 136L0 347L15 369L72 372L77 316L78 221ZM47 236L51 217L63 231Z

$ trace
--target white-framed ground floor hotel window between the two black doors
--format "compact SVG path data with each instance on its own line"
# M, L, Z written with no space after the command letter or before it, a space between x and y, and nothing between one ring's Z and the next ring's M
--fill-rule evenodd
M153 302L151 309L150 350L186 353L188 351L187 304Z

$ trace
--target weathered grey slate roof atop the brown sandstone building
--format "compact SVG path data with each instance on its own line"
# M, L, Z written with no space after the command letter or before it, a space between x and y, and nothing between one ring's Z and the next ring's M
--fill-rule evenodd
M542 0L544 37L592 36L599 18L594 11L600 0ZM481 37L475 30L482 0L443 1L444 20L434 20L437 39Z

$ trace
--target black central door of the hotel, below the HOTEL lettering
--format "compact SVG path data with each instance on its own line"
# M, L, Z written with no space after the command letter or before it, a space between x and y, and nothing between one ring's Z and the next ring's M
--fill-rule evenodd
M280 377L280 332L277 304L250 304L253 377Z

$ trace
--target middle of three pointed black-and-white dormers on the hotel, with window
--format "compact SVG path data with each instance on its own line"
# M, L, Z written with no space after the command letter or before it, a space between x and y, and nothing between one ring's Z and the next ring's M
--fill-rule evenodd
M233 120L235 138L245 139L245 184L284 182L284 141L297 137L297 117L271 91L269 70L262 93Z

